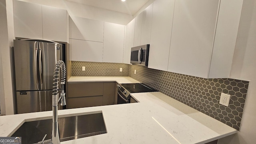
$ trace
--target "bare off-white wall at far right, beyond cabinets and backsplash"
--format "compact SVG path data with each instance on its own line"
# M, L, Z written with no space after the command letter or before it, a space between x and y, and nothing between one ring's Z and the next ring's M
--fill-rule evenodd
M256 143L256 1L244 0L231 78L250 80L240 132L218 144Z

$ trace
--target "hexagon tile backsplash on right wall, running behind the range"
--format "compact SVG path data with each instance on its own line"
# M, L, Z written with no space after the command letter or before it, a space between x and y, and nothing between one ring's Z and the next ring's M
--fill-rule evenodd
M248 81L199 78L138 65L130 66L129 76L236 130L240 129ZM222 92L231 95L228 107L219 104Z

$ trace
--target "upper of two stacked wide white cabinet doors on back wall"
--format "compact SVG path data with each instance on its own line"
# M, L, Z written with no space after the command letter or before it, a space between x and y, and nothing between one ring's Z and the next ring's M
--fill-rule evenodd
M103 42L104 22L72 17L69 20L69 37L78 40Z

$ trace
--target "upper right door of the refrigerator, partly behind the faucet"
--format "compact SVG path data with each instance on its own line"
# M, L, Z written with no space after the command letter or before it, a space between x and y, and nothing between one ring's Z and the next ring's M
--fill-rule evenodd
M58 60L62 60L63 58L62 47L62 44L39 42L39 73L41 90L52 90L55 64ZM59 89L60 88L59 83Z

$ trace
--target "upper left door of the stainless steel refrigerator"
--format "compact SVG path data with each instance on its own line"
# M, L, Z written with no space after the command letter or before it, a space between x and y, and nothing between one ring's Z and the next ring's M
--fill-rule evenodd
M16 90L40 90L38 42L14 40Z

